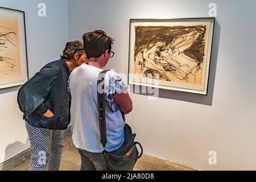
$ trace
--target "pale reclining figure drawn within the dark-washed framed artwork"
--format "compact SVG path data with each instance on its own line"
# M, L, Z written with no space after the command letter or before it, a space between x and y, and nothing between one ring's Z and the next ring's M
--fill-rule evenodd
M170 80L174 80L172 78L174 76L188 82L200 71L201 61L188 57L184 51L193 45L199 35L197 31L191 31L188 34L177 36L167 47L163 42L158 42L154 51L150 49L145 52L144 59L145 61L154 60L156 67L162 67L160 68L162 72L170 72L171 75L166 73Z

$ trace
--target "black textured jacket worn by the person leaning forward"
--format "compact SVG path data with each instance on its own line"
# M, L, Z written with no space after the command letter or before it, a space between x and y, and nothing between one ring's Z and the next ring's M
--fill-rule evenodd
M67 129L71 105L69 75L67 63L60 59L45 65L19 89L19 108L28 124L52 130ZM43 116L47 109L54 114L52 118Z

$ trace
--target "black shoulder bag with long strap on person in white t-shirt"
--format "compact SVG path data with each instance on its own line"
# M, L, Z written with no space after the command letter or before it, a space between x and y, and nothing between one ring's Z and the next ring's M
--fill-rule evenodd
M113 171L132 171L137 159L141 158L143 154L143 148L140 143L135 142L134 138L136 134L133 134L131 127L125 124L125 142L120 148L115 151L106 151L106 119L105 119L105 92L104 91L104 76L108 71L103 71L98 76L98 88L102 89L102 92L98 92L98 114L100 122L100 133L101 133L101 143L104 147L102 155L104 157L105 163ZM98 90L99 91L99 90ZM123 120L125 121L125 114L123 114ZM141 148L141 154L139 154L136 145Z

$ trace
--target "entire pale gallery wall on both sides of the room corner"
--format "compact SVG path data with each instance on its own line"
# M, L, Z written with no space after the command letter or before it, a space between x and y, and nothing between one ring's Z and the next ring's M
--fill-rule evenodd
M38 4L46 3L46 17ZM159 90L159 98L131 93L134 110L127 121L146 154L197 169L256 170L256 2L189 0L0 0L0 6L26 11L30 78L59 58L68 40L105 30L115 56L106 69L128 73L129 20L208 17L216 3L216 30L208 96ZM19 87L0 90L0 164L29 147ZM210 165L209 152L217 154Z

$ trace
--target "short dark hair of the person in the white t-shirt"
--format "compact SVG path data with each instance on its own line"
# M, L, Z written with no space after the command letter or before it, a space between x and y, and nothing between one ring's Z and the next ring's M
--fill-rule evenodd
M82 36L84 49L88 58L100 57L106 50L112 49L113 39L102 30L85 33Z

